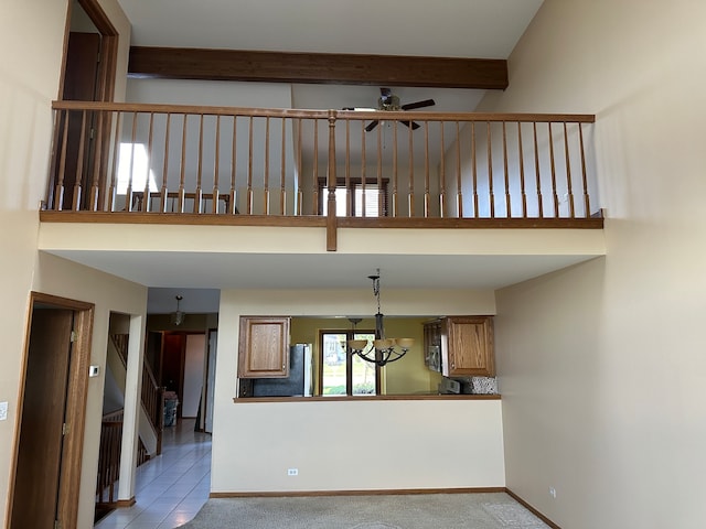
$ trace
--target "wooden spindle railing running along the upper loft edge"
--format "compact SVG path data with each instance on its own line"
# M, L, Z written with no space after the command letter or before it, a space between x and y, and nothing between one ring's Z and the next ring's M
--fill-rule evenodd
M589 115L53 108L50 210L375 219L599 210Z

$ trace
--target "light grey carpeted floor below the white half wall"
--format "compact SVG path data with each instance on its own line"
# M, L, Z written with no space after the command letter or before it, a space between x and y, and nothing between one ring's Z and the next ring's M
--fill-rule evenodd
M210 499L184 529L547 529L509 495Z

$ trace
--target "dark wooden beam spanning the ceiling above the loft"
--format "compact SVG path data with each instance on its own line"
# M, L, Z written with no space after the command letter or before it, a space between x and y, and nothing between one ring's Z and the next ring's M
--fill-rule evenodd
M130 48L135 77L505 89L507 62L488 58Z

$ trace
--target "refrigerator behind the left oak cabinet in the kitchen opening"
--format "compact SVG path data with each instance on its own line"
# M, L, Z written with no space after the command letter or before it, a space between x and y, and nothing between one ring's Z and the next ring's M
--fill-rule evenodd
M313 361L311 344L289 347L288 378L254 378L252 397L311 397Z

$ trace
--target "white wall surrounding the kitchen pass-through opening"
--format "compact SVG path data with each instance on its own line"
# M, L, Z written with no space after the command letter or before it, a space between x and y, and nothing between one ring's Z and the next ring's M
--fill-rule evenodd
M240 315L365 314L373 303L367 289L222 292L212 492L504 486L499 400L234 403ZM493 314L495 306L492 292L393 290L384 309ZM287 476L292 467L297 477Z

